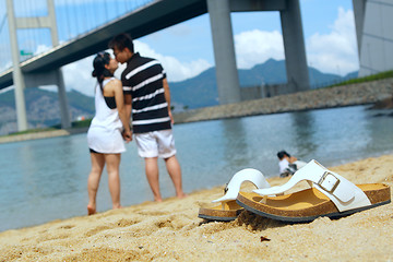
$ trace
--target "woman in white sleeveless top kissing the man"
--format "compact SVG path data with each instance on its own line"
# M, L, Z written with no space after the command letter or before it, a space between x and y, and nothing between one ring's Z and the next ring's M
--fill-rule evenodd
M96 114L87 132L92 170L87 179L87 214L96 213L96 195L104 166L107 166L112 209L120 209L120 154L124 142L132 140L129 119L126 115L121 82L114 78L118 62L108 52L98 53L93 61Z

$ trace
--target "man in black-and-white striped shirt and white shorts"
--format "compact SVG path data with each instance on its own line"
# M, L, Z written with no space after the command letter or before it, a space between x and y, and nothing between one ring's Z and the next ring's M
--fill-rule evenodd
M176 195L184 198L171 131L174 119L170 112L170 93L163 67L157 60L134 52L133 40L128 34L115 36L109 48L114 50L118 62L127 62L127 68L121 73L126 111L129 117L132 112L132 132L138 153L145 159L145 172L154 200L163 201L158 182L158 157L165 159Z

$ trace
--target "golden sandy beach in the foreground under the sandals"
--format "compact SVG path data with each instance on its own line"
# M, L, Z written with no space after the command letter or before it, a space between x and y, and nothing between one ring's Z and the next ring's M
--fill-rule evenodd
M355 183L393 186L393 155L329 168ZM269 182L276 186L287 180L272 178ZM392 203L340 219L323 217L293 225L249 212L230 223L198 218L199 207L221 196L223 187L191 192L183 200L146 202L3 231L0 261L393 260ZM306 183L295 190L301 187ZM251 189L249 184L242 188Z

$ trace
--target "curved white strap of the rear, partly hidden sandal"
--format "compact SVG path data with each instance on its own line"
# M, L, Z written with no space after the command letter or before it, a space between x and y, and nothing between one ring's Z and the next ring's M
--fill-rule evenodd
M259 189L270 187L269 182L266 181L265 177L261 171L253 168L246 168L234 175L234 177L230 179L227 186L228 190L225 193L225 195L223 198L213 200L212 202L215 203L215 202L227 202L230 200L236 200L240 191L240 186L245 181L252 182Z

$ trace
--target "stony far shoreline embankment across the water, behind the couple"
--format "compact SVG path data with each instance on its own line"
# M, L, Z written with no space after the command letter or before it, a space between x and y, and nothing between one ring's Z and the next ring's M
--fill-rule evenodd
M384 79L360 84L310 90L269 98L245 100L229 105L218 105L174 112L175 124L240 118L257 115L295 112L313 109L372 105L393 108L393 79ZM0 136L1 143L34 139L45 139L86 132L88 128L44 131L37 133Z

